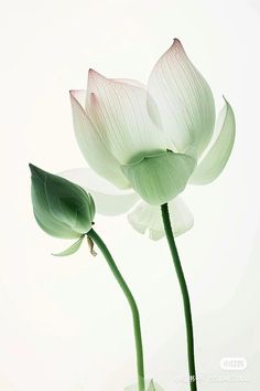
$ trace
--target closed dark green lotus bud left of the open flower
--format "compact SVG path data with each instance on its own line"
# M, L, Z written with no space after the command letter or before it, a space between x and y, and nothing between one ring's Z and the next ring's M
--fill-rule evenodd
M78 239L93 225L95 203L79 186L30 165L36 222L55 237ZM67 254L66 254L67 255Z

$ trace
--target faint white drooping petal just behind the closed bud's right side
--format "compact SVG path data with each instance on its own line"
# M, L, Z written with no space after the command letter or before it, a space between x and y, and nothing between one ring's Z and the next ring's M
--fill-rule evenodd
M94 198L97 213L100 214L123 214L139 201L137 193L119 191L111 183L95 175L89 168L63 171L59 176L87 190Z

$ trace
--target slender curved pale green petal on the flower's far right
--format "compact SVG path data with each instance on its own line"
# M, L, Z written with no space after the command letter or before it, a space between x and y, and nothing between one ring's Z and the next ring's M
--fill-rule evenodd
M219 113L216 131L219 131L219 135L194 170L189 178L191 183L206 184L212 182L221 173L229 159L235 141L236 121L234 110L227 101Z

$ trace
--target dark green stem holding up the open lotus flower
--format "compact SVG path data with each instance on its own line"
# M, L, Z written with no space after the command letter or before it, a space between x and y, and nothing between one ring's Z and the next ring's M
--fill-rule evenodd
M188 297L187 284L184 277L183 268L177 253L177 247L174 241L167 203L164 203L161 207L161 209L162 209L162 219L163 219L165 234L167 237L167 243L172 253L173 263L175 266L177 279L183 296L183 305L184 305L184 313L185 313L185 320L186 320L189 385L191 385L191 391L196 391L197 384L196 384L196 370L195 370L195 357L194 357L193 319L192 319L192 309L191 309L191 303Z

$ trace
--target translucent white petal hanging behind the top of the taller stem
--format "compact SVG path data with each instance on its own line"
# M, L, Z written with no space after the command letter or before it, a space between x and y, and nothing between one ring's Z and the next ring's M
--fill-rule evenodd
M192 212L180 197L169 202L169 211L175 236L181 235L193 226ZM138 232L145 233L148 231L149 237L154 241L165 235L160 207L151 207L145 202L140 202L129 213L128 221Z

